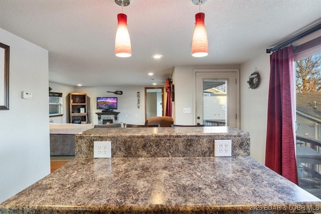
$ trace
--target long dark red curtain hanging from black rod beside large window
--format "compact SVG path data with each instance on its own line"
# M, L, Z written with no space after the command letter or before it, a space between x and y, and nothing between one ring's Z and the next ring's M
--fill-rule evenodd
M293 46L270 56L265 165L298 184L295 133Z

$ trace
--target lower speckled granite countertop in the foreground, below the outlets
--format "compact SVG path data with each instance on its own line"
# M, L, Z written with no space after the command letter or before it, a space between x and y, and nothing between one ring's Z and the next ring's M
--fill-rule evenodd
M249 156L75 158L0 204L2 213L49 214L320 209L320 199Z

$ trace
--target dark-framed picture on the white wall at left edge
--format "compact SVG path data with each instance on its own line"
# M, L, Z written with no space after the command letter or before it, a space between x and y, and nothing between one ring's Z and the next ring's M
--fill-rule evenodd
M0 110L9 110L10 46L0 43Z

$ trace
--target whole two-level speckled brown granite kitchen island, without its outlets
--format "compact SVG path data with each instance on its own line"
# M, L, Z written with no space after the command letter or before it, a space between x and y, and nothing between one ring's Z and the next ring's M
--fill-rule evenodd
M214 157L230 139L232 157ZM112 158L93 158L111 141ZM1 213L313 213L321 200L249 156L230 127L93 128L76 158L0 204Z

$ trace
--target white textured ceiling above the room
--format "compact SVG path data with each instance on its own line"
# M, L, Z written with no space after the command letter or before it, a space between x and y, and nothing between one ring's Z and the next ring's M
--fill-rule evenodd
M320 0L208 0L201 12L209 55L194 58L198 6L191 0L131 0L123 13L132 56L118 58L114 39L121 10L114 0L0 0L0 27L49 50L51 82L164 85L174 66L241 64L321 19ZM164 58L152 59L156 53Z

